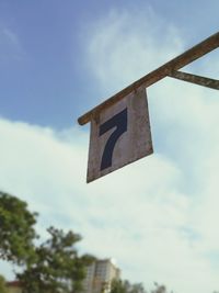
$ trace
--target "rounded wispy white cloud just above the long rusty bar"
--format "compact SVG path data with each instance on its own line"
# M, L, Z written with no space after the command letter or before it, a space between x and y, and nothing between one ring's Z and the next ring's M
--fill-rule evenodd
M96 21L89 38L88 66L103 93L135 81L183 49L174 26L159 19L152 9L113 10Z

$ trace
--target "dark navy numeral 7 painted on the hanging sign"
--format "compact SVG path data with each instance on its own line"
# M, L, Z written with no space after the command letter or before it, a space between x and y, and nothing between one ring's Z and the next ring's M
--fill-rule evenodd
M103 135L104 133L108 132L113 127L116 127L115 131L108 137L102 160L101 160L101 171L112 166L112 158L113 158L113 150L115 147L116 142L122 136L123 133L127 131L127 108L113 116L112 119L107 120L100 126L99 135Z

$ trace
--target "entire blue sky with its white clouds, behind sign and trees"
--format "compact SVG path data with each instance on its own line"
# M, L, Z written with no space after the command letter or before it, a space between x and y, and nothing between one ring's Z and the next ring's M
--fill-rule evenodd
M165 78L147 89L154 154L85 183L78 117L218 32L218 0L0 0L0 190L80 233L123 279L219 290L219 94ZM185 71L218 79L218 49ZM0 273L13 279L12 267Z

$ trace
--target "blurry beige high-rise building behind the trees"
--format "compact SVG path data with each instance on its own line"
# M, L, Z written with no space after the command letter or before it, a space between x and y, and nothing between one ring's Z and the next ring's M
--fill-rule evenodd
M107 293L112 281L119 279L120 270L112 259L96 260L87 268L87 278L83 282L84 293Z

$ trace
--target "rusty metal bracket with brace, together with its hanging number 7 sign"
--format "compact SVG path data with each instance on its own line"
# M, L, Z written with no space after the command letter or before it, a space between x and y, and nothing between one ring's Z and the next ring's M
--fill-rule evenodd
M147 95L143 98L146 106L142 106L146 109L145 114L141 115L142 100L135 105L135 100L143 97L148 87L165 77L172 77L219 90L217 79L178 71L218 47L219 32L138 79L78 119L80 125L91 122L88 182L152 154Z

